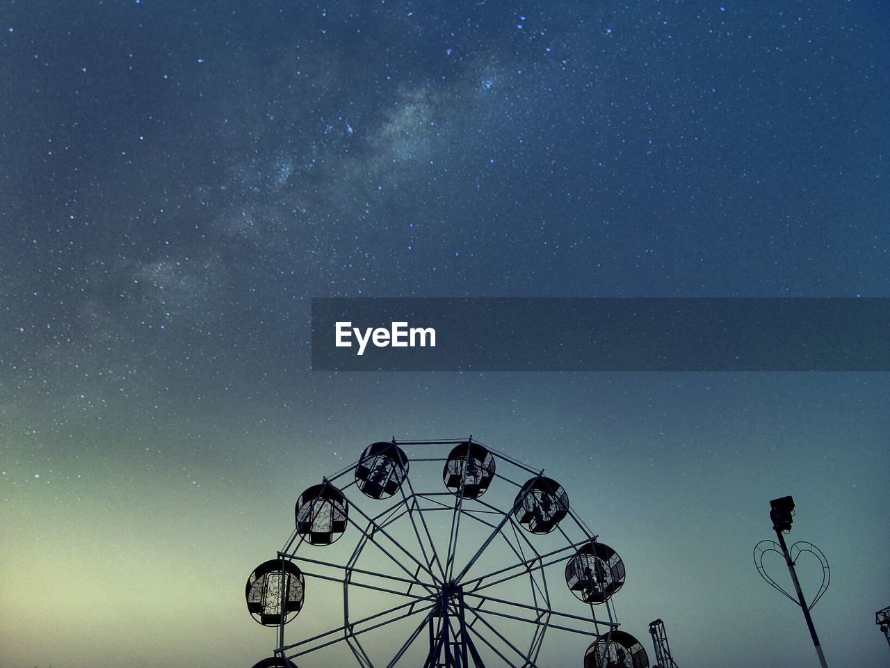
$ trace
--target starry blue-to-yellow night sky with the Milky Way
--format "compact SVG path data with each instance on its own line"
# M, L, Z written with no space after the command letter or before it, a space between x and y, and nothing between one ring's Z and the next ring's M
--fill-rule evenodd
M751 559L792 494L789 538L832 566L829 665L886 663L886 373L325 373L309 309L890 297L888 25L877 1L6 0L0 664L250 666L274 637L244 582L299 493L369 443L469 434L619 551L651 657L661 617L680 665L813 665Z

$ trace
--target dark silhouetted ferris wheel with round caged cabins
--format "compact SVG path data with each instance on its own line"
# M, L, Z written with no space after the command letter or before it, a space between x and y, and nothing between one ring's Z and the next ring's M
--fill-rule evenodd
M299 495L294 531L245 596L276 629L255 668L646 668L617 630L624 581L542 470L472 436L393 438Z

